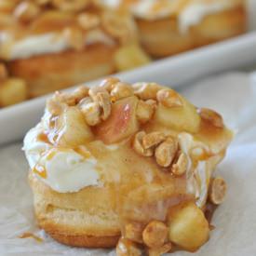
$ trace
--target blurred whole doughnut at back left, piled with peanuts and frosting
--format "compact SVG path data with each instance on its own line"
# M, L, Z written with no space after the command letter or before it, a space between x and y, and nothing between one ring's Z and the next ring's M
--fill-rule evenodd
M27 84L26 99L150 61L128 12L94 0L1 0L0 45L9 76Z

